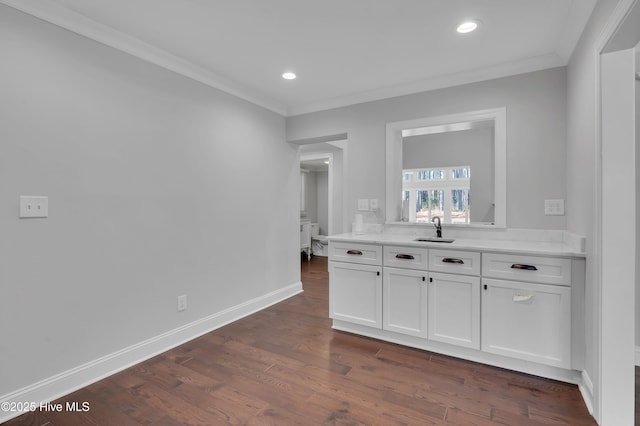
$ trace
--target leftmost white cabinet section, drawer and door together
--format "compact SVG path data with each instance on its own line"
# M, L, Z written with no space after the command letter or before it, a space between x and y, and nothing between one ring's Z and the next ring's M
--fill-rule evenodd
M382 247L329 244L329 316L382 328Z

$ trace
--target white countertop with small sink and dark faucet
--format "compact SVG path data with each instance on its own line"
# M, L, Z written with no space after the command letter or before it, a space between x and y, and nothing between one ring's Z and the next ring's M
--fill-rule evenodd
M559 231L562 232L562 231ZM497 253L511 254L533 254L543 256L562 257L586 257L581 244L572 244L571 239L558 238L543 241L532 241L523 238L458 238L447 236L445 238L455 238L452 243L421 242L415 241L417 235L397 234L397 233L372 233L372 234L338 234L328 237L329 242L353 242L385 245L403 245L411 247L428 247L452 250L479 250ZM582 244L583 245L583 244Z

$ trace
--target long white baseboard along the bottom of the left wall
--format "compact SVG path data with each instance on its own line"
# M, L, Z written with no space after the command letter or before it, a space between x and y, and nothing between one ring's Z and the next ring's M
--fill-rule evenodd
M298 281L272 293L217 312L128 348L56 374L10 394L3 395L0 397L0 405L3 408L0 410L0 423L23 414L23 412L16 412L11 409L5 410L4 408L6 407L22 407L25 403L31 403L38 408L41 403L47 403L68 395L189 340L295 296L302 291L302 282ZM28 405L25 411L29 411Z

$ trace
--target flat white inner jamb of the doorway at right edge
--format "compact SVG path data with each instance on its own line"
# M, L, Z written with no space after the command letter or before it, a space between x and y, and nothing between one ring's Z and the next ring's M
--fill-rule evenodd
M600 421L634 422L635 51L601 56ZM626 77L626 78L625 78ZM637 196L637 195L636 195Z

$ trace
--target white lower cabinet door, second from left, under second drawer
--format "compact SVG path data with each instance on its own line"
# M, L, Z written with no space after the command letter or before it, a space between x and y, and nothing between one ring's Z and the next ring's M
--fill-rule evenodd
M427 272L384 268L383 328L427 337Z

